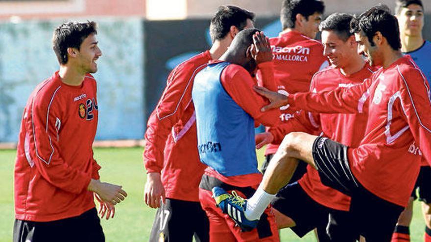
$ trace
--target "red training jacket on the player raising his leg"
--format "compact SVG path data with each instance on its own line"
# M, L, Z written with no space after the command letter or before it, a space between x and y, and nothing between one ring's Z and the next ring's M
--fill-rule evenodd
M420 169L421 151L431 161L428 82L409 56L380 68L363 84L289 96L314 112L367 113L365 137L348 149L350 169L370 192L407 206Z

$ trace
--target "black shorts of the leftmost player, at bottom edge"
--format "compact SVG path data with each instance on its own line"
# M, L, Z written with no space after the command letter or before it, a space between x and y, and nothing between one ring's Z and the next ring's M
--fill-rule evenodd
M15 220L14 242L104 242L96 208L77 217L48 222Z

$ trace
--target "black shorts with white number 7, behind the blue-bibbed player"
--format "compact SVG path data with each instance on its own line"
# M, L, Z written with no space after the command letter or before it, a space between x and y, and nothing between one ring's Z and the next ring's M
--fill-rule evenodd
M199 202L166 198L154 218L150 242L208 242L208 217Z

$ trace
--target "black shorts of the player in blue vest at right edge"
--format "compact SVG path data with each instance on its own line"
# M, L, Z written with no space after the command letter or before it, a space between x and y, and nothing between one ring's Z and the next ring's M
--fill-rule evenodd
M421 166L421 171L414 185L413 193L411 197L414 199L418 198L416 191L419 194L419 201L423 201L427 204L431 203L431 167Z

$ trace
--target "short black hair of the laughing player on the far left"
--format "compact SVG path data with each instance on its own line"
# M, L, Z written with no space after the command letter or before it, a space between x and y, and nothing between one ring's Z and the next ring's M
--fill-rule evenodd
M54 30L52 48L62 65L68 62L68 48L77 48L91 34L97 34L96 22L66 22Z

